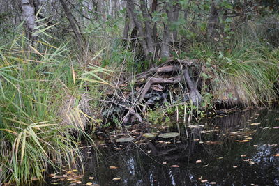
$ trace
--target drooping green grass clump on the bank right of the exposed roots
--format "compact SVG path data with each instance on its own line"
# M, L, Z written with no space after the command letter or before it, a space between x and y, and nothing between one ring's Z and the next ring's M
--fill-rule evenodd
M211 42L194 43L188 56L204 61L210 75L213 98L229 104L259 105L277 98L278 49L264 42L257 27L253 38L248 24L229 41L225 49L216 49ZM261 28L262 30L259 30Z

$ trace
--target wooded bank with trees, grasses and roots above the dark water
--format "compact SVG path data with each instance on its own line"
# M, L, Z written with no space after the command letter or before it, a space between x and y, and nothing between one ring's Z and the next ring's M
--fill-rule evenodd
M278 104L278 0L0 2L0 185L82 169L100 132Z

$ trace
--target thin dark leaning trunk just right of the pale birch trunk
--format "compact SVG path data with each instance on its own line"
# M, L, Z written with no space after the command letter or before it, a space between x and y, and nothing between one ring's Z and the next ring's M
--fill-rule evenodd
M73 29L73 32L75 34L75 40L77 41L77 45L79 45L80 49L83 50L84 45L82 43L82 34L80 33L80 31L77 30L77 26L75 25L75 20L74 20L73 14L70 12L65 0L59 0L59 1L63 7L63 10L65 11L68 21L70 22L70 26Z

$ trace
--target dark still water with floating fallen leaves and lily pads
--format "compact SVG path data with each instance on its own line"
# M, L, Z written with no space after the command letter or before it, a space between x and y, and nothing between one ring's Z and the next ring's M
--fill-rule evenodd
M107 147L99 147L98 161L95 153L87 153L93 150L85 148L86 173L80 181L101 186L279 185L279 109L227 115L196 123L204 126L188 128L187 132L183 124L179 124L179 131L176 124L165 127L163 132L181 133L175 139L142 138L137 143L123 144L113 143L112 139ZM52 178L47 182L75 184L75 180L62 182Z

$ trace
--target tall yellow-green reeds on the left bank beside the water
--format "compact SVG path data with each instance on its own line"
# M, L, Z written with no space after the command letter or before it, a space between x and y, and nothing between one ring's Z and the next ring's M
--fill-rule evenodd
M75 166L80 134L91 141L85 128L96 122L94 93L84 86L107 84L98 76L107 71L84 72L67 45L33 47L23 35L0 47L0 62L1 182L43 180L48 167Z

